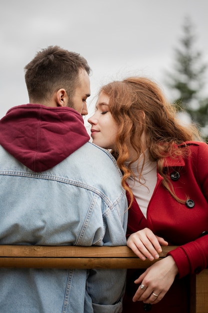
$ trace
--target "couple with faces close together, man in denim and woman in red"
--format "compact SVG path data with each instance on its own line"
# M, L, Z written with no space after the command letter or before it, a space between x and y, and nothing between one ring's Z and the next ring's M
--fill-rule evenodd
M84 58L49 47L25 70L30 104L0 121L0 244L124 245L129 207L127 244L138 257L179 247L127 271L123 312L188 313L188 274L208 265L207 144L193 141L197 130L180 125L153 81L131 77L101 87L89 118L93 143L110 153L83 125ZM123 269L0 276L1 311L122 311Z

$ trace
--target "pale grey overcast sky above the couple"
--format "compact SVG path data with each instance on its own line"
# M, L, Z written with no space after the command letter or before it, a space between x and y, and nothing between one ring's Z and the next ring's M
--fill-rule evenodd
M152 77L167 91L164 72L173 68L187 15L208 63L207 12L206 0L1 0L0 118L28 103L23 68L48 45L87 59L92 97L100 84L130 74Z

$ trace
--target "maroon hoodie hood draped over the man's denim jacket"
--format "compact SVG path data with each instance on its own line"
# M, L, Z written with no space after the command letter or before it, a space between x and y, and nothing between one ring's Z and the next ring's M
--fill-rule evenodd
M0 144L36 172L60 163L88 140L81 114L70 107L23 104L0 120Z

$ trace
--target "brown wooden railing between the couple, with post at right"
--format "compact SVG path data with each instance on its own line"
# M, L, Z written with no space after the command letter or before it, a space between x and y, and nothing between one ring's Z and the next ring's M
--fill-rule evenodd
M160 259L175 246L164 246ZM147 268L127 246L0 245L0 267L22 268ZM191 275L190 313L208 313L208 269Z

